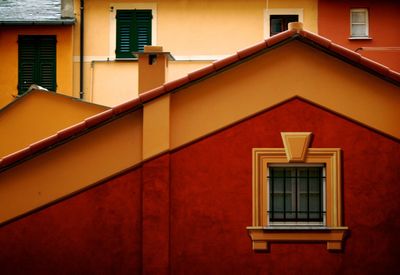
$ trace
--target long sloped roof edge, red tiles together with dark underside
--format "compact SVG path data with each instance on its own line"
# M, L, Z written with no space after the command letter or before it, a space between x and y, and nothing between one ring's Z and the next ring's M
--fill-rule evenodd
M181 88L187 87L188 85L192 85L212 75L218 74L219 72L224 71L229 67L236 66L249 58L262 54L265 51L273 49L292 40L304 41L305 43L311 44L312 46L315 46L330 55L340 58L347 63L357 66L362 70L365 70L388 82L400 86L399 72L393 71L380 63L365 58L359 53L353 52L347 48L335 44L331 40L319 36L315 33L308 32L302 29L290 29L275 36L272 36L264 41L261 41L253 46L240 50L237 53L224 59L217 60L212 64L193 71L182 78L167 82L155 89L142 93L136 99L127 101L107 111L87 118L74 126L59 131L57 134L47 137L34 144L31 144L29 147L26 147L18 152L10 154L0 160L0 169L6 169L13 163L19 160L23 160L25 158L32 157L34 154L40 153L39 151L45 150L47 147L55 145L75 135L81 135L102 123L112 121L113 119L123 115L124 113L137 110L141 108L144 103L147 103L155 98L158 98L167 93L175 92Z

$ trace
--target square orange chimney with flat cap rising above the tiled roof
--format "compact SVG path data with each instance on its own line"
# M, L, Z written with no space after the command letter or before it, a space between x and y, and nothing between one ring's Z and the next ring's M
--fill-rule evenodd
M143 52L134 52L139 58L139 94L154 89L166 81L168 61L174 60L161 46L144 46Z

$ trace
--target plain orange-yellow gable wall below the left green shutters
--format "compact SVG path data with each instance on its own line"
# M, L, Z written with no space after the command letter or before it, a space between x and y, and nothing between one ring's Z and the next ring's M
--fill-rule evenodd
M106 109L52 92L32 91L0 112L0 158Z

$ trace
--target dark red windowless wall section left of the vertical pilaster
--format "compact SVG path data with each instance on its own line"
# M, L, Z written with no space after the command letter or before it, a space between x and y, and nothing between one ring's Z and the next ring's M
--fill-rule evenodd
M0 274L139 273L140 182L132 171L0 227Z

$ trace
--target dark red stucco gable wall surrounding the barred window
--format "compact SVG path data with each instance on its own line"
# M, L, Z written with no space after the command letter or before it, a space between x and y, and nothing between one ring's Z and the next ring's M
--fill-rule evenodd
M326 244L272 244L254 253L251 149L283 147L281 131L311 131L312 147L343 149L344 253ZM383 274L399 269L400 145L299 100L171 157L174 274Z

